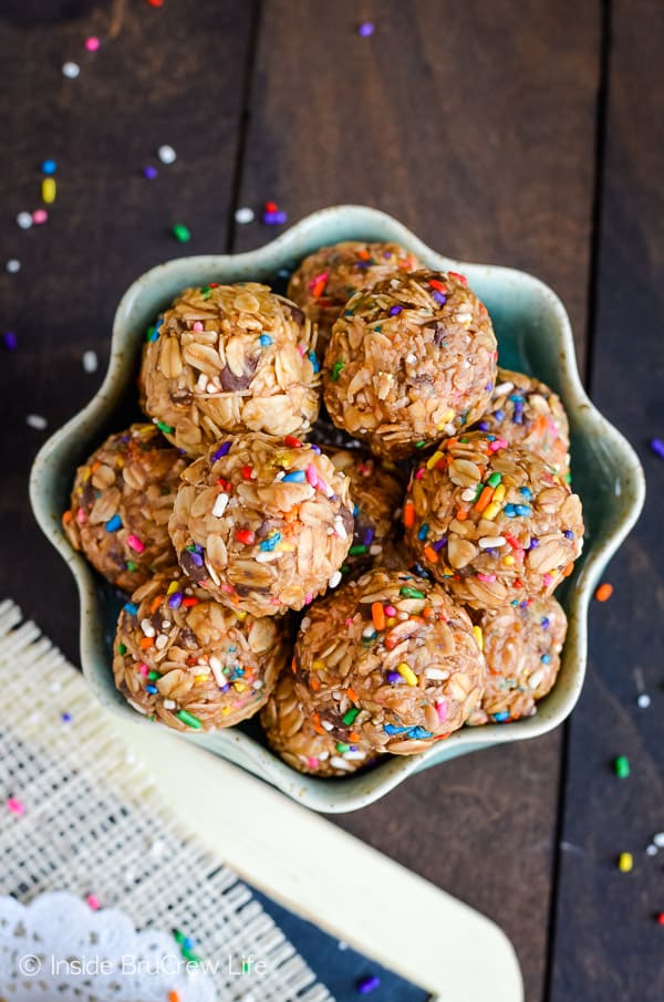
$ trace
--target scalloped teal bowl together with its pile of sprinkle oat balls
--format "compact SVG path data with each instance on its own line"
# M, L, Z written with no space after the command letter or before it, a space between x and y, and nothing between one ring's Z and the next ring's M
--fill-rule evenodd
M556 294L361 206L142 275L31 478L100 702L324 812L563 721L643 493Z

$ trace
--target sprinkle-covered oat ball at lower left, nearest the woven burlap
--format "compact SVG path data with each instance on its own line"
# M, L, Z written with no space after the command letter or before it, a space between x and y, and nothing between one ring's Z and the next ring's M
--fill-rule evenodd
M290 657L286 620L214 602L177 567L142 585L120 614L113 675L139 713L178 731L252 717Z

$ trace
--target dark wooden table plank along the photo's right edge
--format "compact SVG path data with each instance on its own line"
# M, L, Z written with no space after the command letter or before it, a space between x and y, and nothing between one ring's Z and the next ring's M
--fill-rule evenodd
M649 495L608 570L613 598L592 610L589 680L570 721L552 1002L664 998L663 857L644 853L664 829L664 462L647 448L664 438L664 8L611 8L591 390L640 452ZM639 674L650 709L636 706ZM630 759L629 779L614 775L615 755ZM634 855L631 874L616 868L621 852Z

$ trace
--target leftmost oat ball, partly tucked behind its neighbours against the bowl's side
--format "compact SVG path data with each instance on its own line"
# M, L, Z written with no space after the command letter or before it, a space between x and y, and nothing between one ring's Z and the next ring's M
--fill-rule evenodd
M176 562L168 519L186 465L154 425L132 425L111 435L76 470L64 531L125 592Z

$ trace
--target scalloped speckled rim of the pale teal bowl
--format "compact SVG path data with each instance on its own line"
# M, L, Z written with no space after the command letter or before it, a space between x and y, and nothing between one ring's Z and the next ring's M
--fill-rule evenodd
M388 761L381 762L374 770L339 780L320 780L300 775L267 748L263 748L250 735L236 728L215 732L214 747L211 747L209 741L210 734L181 735L179 732L174 732L178 738L184 737L186 740L191 740L201 747L206 747L207 742L207 747L216 754L230 758L236 762L239 761L245 768L268 780L300 803L329 813L353 811L365 806L393 790L411 773L426 769L436 762L446 761L481 748L490 748L495 744L539 737L561 723L572 711L583 686L588 641L588 607L593 587L603 567L636 522L645 497L643 470L634 450L593 406L583 389L577 368L571 325L562 302L552 289L533 275L499 265L455 261L432 250L393 217L364 206L333 206L321 209L304 217L277 237L276 240L257 250L239 254L199 254L173 259L145 272L129 285L123 295L113 322L111 357L102 385L90 403L55 431L42 446L34 460L30 477L30 499L37 521L46 537L66 561L76 581L81 606L80 646L83 674L98 698L102 698L102 689L95 671L91 668L91 664L94 660L92 651L97 643L93 629L93 613L96 608L95 576L83 556L74 551L66 540L60 528L60 512L53 511L48 501L48 491L42 489L44 482L48 482L51 476L50 465L53 455L59 451L63 443L75 438L84 427L90 427L95 422L97 425L101 424L112 413L120 396L120 389L116 385L117 379L122 377L121 369L126 365L126 362L122 361L122 356L125 341L131 335L128 319L134 303L146 288L149 289L153 284L170 282L172 279L177 278L173 288L176 290L181 289L189 281L196 281L195 275L197 272L212 273L215 269L224 268L225 265L232 265L235 270L243 270L247 273L252 269L259 270L261 267L269 267L270 271L274 271L274 268L279 267L278 264L276 265L276 259L281 259L282 264L290 262L300 241L305 242L308 236L311 237L330 226L335 226L340 217L342 218L343 227L354 228L357 232L362 232L363 228L369 230L372 226L380 229L381 238L370 239L392 240L402 243L426 263L438 267L440 270L453 269L461 272L473 272L475 275L485 274L487 278L499 276L506 283L510 281L517 281L521 285L528 283L531 291L537 292L543 300L547 300L549 307L556 315L560 344L563 348L562 374L567 384L564 393L566 405L568 408L570 406L577 409L581 408L587 428L596 434L602 441L608 442L613 450L619 451L625 466L626 474L632 478L633 495L615 530L604 539L591 542L590 553L585 555L583 567L577 576L574 595L569 608L570 632L572 629L574 632L577 666L571 685L560 701L558 710L549 714L549 717L536 714L532 718L513 723L464 728L452 735L448 741L438 743L417 755L386 756ZM362 238L356 237L354 239ZM322 246L324 242L322 240L315 246ZM183 274L191 274L191 279L186 278L183 281ZM570 636L568 635L569 643ZM111 670L110 666L107 670ZM107 706L105 699L102 699L102 702ZM115 712L128 712L133 719L136 719L137 714L135 711L124 703L114 703L110 708Z

